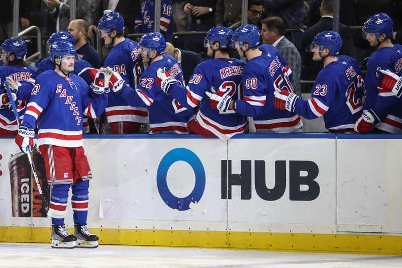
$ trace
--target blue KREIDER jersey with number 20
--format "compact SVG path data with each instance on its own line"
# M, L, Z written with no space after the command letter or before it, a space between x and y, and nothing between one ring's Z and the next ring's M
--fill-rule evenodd
M243 98L242 73L246 63L238 59L209 59L199 63L187 87L173 84L169 94L184 107L192 109L199 105L196 120L217 137L227 140L237 133L244 132L247 117L235 111L221 112L212 109L206 92L229 91L232 100Z

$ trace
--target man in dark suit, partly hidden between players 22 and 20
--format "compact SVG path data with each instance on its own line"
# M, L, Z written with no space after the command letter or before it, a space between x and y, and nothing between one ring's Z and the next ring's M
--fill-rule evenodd
M164 50L164 53L173 56L177 60L178 64L180 64L183 71L185 84L188 84L188 81L194 72L195 66L203 61L201 55L192 51L175 48L169 42L166 42L166 49Z

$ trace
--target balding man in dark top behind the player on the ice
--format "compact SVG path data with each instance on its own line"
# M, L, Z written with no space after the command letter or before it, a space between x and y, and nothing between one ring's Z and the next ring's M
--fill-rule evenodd
M74 37L74 46L80 58L89 62L96 69L99 69L101 67L100 54L86 41L88 28L89 26L86 21L81 19L73 20L68 25L68 32Z

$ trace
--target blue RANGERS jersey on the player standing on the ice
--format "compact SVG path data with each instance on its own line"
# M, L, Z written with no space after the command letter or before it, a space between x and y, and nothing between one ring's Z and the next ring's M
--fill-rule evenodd
M89 86L76 74L63 77L47 70L36 79L23 125L35 129L38 120L38 146L82 146L82 118L96 118L106 108L107 94L88 96Z

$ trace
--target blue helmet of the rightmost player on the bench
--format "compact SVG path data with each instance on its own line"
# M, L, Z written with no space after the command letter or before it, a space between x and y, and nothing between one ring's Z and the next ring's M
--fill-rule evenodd
M393 21L385 13L378 13L370 16L363 26L363 38L367 39L368 34L375 34L376 39L380 38L382 33L386 37L391 37L393 31Z

